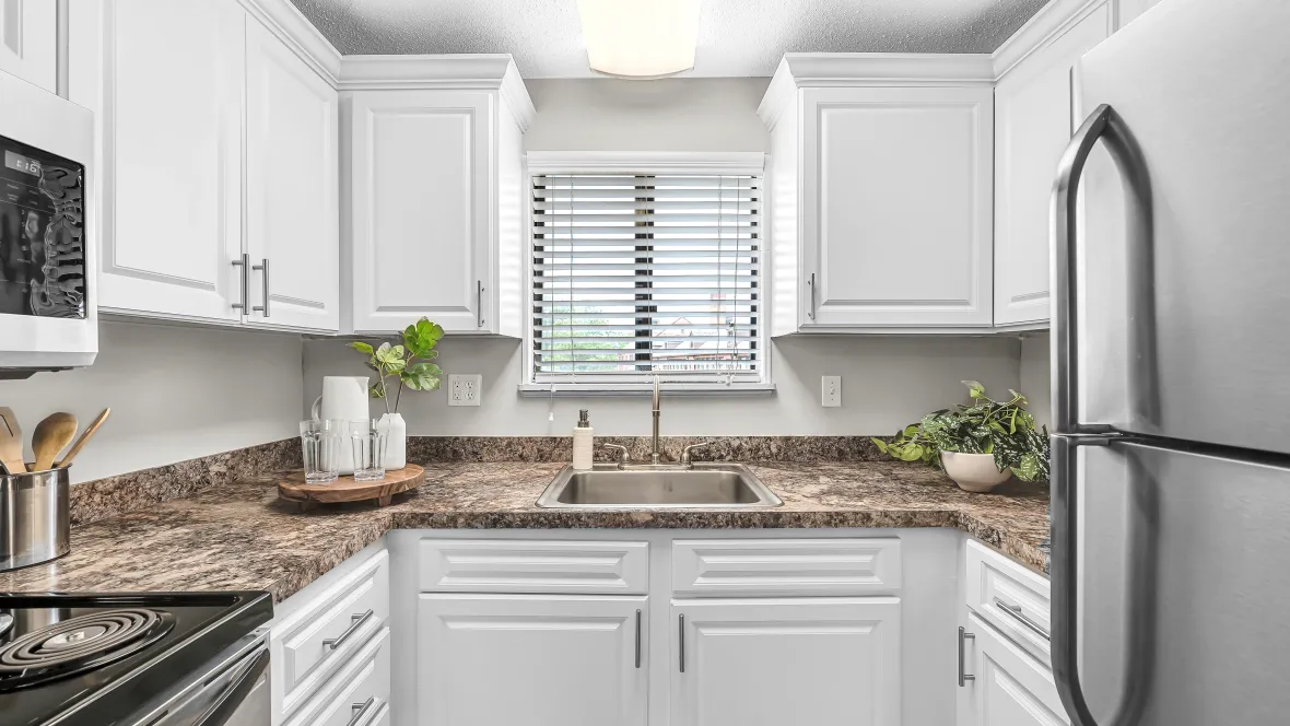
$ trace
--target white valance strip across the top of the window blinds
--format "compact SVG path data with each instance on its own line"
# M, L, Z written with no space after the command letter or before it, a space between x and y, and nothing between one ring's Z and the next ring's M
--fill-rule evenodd
M538 174L761 174L760 151L530 151L524 156Z

